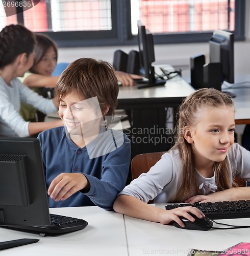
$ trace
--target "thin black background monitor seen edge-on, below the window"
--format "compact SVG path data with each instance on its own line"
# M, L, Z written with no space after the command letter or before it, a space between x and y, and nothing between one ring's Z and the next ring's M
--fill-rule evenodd
M144 87L160 86L165 84L165 80L156 79L155 69L152 63L155 61L155 49L153 35L146 30L141 20L137 21L138 46L140 59L140 75L148 79ZM143 86L141 86L143 87Z

